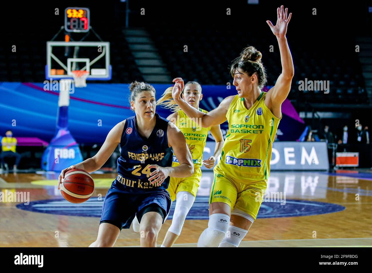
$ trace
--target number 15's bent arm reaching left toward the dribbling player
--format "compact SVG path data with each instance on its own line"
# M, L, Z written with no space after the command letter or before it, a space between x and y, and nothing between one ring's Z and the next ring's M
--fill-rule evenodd
M198 109L192 107L185 100L181 98L181 92L183 90L183 79L175 78L173 79L174 87L172 91L173 100L176 101L179 107L185 112L187 117L195 118L195 123L201 127L207 128L219 125L226 121L226 113L230 106L230 103L234 96L229 96L225 98L218 107L208 113L203 113Z

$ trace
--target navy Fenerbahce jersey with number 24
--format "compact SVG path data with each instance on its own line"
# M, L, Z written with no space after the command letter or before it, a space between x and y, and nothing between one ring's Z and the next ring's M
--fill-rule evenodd
M167 128L169 120L155 114L156 124L150 137L140 136L135 124L135 116L125 121L120 140L121 156L118 158L118 176L116 183L124 186L126 191L156 191L165 190L169 185L169 176L160 186L148 181L150 173L155 168L148 166L156 164L161 167L171 167L173 149L168 146Z

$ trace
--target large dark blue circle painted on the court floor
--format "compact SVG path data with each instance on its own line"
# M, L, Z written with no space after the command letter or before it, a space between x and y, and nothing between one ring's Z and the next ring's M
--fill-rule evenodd
M197 196L195 202L187 214L189 220L208 220L208 197ZM19 209L58 215L101 217L102 200L91 197L81 204L73 204L63 198L32 201L28 205L18 204ZM173 202L168 219L171 219L176 202ZM125 208L123 208L125 209ZM307 200L287 199L284 203L263 202L257 218L297 217L326 214L343 211L345 207L337 204L315 202Z

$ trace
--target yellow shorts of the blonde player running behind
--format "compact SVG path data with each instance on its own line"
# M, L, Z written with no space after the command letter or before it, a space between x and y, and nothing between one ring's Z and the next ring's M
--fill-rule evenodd
M202 170L200 168L194 168L193 175L189 177L171 177L167 189L170 195L170 199L174 201L174 199L176 199L177 192L190 192L190 194L196 196L201 177Z

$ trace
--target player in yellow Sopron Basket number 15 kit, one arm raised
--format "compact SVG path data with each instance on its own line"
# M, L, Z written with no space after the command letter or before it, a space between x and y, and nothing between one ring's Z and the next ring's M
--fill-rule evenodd
M270 174L272 141L282 117L281 105L288 96L294 74L291 52L286 40L288 9L278 8L273 26L266 21L279 44L282 74L267 93L262 54L253 46L245 48L231 65L237 95L225 98L209 113L203 113L180 97L181 78L173 80L174 101L202 127L228 120L229 131L214 168L209 198L209 221L199 237L198 247L238 247L256 220ZM230 223L230 225L229 225Z

